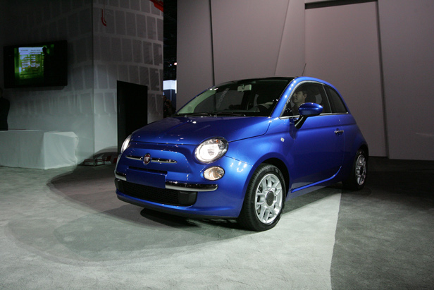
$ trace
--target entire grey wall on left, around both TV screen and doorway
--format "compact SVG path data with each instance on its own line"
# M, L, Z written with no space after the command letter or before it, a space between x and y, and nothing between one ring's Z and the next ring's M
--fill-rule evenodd
M151 1L0 0L0 6L0 47L68 41L67 86L4 90L9 128L73 131L79 162L113 150L116 80L147 85L149 121L162 118L163 13Z

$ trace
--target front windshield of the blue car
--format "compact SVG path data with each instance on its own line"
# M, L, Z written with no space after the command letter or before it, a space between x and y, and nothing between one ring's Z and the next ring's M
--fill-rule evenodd
M256 79L223 83L202 92L179 115L270 116L290 79Z

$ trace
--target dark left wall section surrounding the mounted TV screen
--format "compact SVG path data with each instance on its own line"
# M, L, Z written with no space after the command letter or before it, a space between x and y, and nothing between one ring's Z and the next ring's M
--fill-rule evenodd
M73 131L79 137L77 159L94 152L92 1L2 1L0 47L68 40L68 85L5 89L11 102L10 129ZM3 58L0 59L3 70ZM1 78L1 86L3 86Z

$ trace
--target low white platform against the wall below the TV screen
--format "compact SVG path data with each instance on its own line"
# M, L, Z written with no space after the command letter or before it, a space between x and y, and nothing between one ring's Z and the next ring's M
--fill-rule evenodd
M0 166L50 169L77 164L73 132L0 131Z

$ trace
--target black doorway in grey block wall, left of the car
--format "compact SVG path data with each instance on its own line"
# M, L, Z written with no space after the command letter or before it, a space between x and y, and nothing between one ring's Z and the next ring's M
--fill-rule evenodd
M148 87L118 80L118 152L125 138L148 123Z

